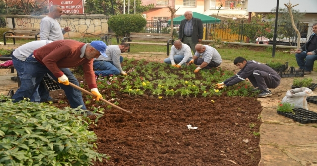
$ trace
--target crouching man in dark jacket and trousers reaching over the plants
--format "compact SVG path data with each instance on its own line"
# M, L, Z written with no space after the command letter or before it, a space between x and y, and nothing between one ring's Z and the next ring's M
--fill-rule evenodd
M226 86L232 86L248 78L251 84L255 87L254 90L262 91L258 97L264 98L272 96L272 93L268 90L268 88L276 88L281 83L281 77L277 74L277 72L265 64L254 60L247 61L243 57L235 58L233 64L241 70L236 75L216 84L218 89L222 89Z

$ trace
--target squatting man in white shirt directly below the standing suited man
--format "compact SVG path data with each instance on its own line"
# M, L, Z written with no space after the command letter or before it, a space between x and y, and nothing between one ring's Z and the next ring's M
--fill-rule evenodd
M190 47L183 44L180 40L174 41L174 45L170 49L169 58L164 59L167 64L180 68L182 65L192 60L193 54ZM177 64L176 64L177 63Z

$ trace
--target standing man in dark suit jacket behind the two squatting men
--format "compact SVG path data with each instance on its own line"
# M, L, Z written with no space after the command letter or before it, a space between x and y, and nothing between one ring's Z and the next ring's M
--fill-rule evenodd
M203 39L203 23L201 19L193 18L192 11L186 11L185 19L179 26L178 39L190 46L195 53L195 45Z

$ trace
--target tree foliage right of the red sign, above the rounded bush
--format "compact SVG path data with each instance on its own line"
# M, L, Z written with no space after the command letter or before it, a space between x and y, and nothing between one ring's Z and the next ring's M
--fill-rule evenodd
M128 0L125 0L125 13L128 13ZM135 1L135 11L136 13L143 13L150 10L154 7L154 4L142 5L141 0ZM113 15L111 0L86 0L85 4L85 13L91 14L104 14L104 15ZM113 1L113 8L115 14L123 14L123 0ZM130 12L134 13L134 1L130 0Z

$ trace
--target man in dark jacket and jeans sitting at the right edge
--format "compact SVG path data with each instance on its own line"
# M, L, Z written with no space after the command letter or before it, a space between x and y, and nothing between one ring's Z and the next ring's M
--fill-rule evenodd
M314 61L317 60L317 23L313 24L313 34L309 37L304 46L295 51L295 57L300 72L304 70L304 75L310 74L313 70Z

